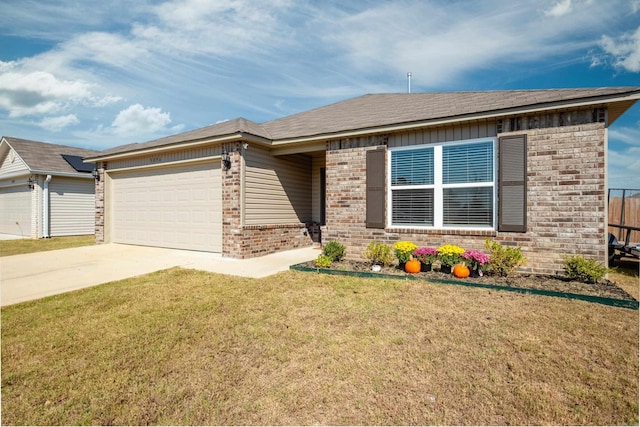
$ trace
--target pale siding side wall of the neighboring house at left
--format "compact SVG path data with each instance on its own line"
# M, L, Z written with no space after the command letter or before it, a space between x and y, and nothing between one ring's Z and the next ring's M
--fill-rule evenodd
M95 232L95 196L92 179L54 176L49 183L50 234L52 237Z

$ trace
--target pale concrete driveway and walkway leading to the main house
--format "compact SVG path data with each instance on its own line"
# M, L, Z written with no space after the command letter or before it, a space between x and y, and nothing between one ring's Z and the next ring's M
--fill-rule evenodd
M0 257L0 304L16 304L171 267L244 277L266 277L310 261L318 248L236 260L209 252L115 243Z

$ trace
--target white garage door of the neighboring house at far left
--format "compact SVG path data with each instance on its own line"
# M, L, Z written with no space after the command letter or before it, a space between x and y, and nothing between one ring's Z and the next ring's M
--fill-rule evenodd
M26 184L0 188L0 233L31 236L31 191Z

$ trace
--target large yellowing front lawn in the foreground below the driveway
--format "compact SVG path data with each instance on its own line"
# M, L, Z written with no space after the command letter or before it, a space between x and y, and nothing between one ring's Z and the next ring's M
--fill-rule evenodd
M3 424L637 424L638 312L185 269L2 309Z

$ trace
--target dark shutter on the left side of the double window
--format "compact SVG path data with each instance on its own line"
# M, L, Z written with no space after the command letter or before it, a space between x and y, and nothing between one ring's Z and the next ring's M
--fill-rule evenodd
M384 228L385 150L367 151L367 228Z

